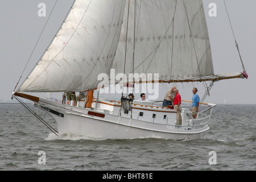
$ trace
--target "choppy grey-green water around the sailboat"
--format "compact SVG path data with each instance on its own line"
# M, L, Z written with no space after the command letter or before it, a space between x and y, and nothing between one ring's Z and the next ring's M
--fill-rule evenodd
M57 129L48 114L30 107ZM97 140L56 137L22 105L0 104L0 170L255 171L255 110L256 105L217 105L203 139ZM39 164L39 151L46 164ZM217 164L209 164L210 151Z

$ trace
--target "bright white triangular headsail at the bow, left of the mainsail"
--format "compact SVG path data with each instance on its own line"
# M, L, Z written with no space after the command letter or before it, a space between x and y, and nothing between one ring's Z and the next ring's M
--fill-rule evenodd
M55 39L20 92L96 88L109 73L121 31L125 1L77 0Z

